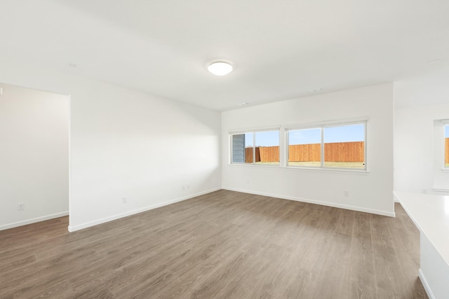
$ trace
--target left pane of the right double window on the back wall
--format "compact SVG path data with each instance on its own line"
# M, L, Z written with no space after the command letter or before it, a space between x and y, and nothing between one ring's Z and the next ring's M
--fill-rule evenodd
M288 132L288 166L321 167L321 128Z

